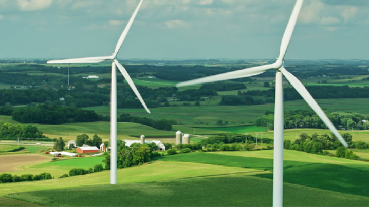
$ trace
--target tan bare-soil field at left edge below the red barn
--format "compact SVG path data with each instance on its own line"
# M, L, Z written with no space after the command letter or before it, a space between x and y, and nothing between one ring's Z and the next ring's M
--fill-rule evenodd
M25 164L32 164L43 160L50 160L50 157L43 155L0 155L0 173L22 170L18 167Z

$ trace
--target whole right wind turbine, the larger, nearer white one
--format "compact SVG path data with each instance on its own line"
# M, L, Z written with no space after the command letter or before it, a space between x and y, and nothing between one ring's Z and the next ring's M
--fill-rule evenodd
M249 77L259 75L268 70L276 70L275 77L275 109L274 109L274 157L273 157L273 206L282 206L283 204L283 82L282 75L284 75L290 84L295 88L299 94L305 99L308 105L314 110L322 119L325 125L338 138L338 140L347 147L346 141L342 138L333 123L328 119L323 110L319 107L315 99L306 90L303 84L294 75L289 73L284 67L284 57L290 42L294 26L296 25L303 0L297 0L291 17L288 21L286 30L284 32L280 54L278 59L273 64L256 66L246 68L238 71L222 73L204 78L198 78L185 82L180 82L177 87L191 86L197 84L204 84L206 82L215 82L220 80L229 80L235 78Z

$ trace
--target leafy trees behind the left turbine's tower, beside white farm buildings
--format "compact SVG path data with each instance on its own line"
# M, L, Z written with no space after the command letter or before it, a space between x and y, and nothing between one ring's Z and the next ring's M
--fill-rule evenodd
M155 152L158 146L155 143L143 144L138 143L132 144L131 147L125 146L125 142L118 140L117 143L117 167L126 168L134 165L141 165L146 162L150 162L152 158L160 156L159 153ZM105 155L103 162L106 164L105 169L110 169L110 155Z

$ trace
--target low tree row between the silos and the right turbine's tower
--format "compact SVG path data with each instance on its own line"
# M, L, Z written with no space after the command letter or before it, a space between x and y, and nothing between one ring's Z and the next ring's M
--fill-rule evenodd
M206 139L207 144L261 143L262 139L243 134L217 134ZM272 144L273 139L263 138L263 143Z

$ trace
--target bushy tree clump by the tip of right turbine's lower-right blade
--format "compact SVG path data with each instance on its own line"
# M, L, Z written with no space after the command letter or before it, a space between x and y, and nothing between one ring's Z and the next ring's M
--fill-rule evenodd
M306 133L302 133L299 137L299 139L294 141L284 140L284 149L325 155L329 153L323 153L323 150L335 150L342 147L341 142L334 134L330 134L329 136L327 134L318 135L317 133L314 133L309 136ZM342 134L342 137L347 142L349 148L354 147L351 134L344 133Z

